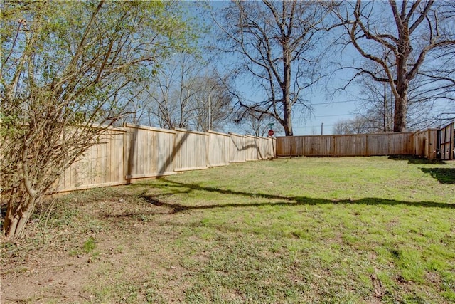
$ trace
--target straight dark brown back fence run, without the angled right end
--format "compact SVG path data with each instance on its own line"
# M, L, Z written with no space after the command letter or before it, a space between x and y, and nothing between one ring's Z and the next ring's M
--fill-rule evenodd
M414 133L277 137L277 157L412 154Z

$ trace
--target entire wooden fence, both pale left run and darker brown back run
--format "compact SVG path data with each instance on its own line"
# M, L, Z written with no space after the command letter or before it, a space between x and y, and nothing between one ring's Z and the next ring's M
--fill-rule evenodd
M109 128L64 172L57 191L127 184L135 179L273 157L405 154L453 159L454 140L454 123L441 130L419 132L276 139L127 125Z

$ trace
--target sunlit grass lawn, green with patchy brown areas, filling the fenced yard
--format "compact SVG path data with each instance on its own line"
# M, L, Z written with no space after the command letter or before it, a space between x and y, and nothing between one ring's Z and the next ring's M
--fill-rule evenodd
M90 255L87 302L455 302L454 162L274 159L54 208L24 248Z

